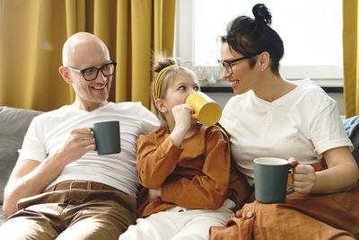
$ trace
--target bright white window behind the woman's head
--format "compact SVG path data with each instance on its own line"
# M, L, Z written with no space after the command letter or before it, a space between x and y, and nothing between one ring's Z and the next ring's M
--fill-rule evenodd
M206 78L218 73L218 37L228 22L240 14L253 16L252 0L177 1L175 57L182 59ZM342 2L337 0L269 1L271 27L285 44L281 74L288 79L311 77L337 80L342 84ZM199 76L199 78L201 78Z

